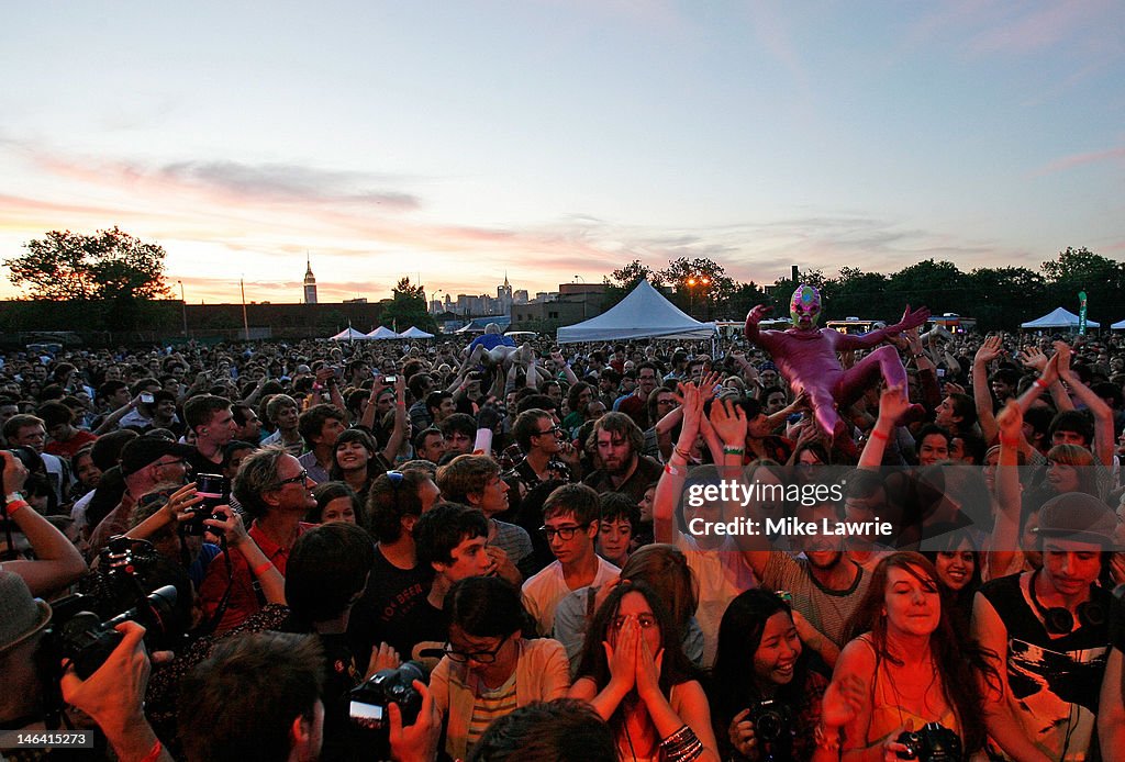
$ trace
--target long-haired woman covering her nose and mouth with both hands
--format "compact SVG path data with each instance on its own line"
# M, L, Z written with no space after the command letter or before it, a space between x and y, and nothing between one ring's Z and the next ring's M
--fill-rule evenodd
M610 724L622 760L719 760L706 696L678 638L640 582L614 588L591 622L570 697Z

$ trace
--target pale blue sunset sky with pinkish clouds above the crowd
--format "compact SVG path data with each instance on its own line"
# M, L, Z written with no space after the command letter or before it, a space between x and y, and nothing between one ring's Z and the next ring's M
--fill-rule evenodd
M2 7L0 256L118 225L191 302L1125 257L1117 0Z

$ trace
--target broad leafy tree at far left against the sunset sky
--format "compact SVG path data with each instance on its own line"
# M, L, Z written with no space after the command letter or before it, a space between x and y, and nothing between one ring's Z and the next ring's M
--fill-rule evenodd
M52 230L24 244L26 253L4 260L9 279L32 299L127 302L170 296L164 247L114 227L94 235Z

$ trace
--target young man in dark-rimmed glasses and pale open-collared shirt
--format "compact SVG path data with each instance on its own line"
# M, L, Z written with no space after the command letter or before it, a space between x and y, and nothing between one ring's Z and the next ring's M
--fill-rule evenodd
M555 628L555 608L580 588L602 586L621 570L594 548L601 507L597 492L584 484L564 484L543 502L543 526L555 563L523 583L523 604L536 619L540 635Z

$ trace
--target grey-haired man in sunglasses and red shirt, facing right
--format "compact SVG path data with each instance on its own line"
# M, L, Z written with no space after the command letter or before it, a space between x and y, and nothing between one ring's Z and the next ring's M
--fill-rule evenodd
M297 537L313 527L302 519L316 507L308 471L284 447L269 446L246 456L234 478L233 492L248 518L250 538L258 544L266 557L285 575L289 551ZM227 596L226 610L215 628L224 633L241 625L266 605L266 597L255 582L269 568L251 569L242 553L226 551L233 579L227 577L226 561L215 559L207 566L207 577L199 588L204 613L215 616Z

